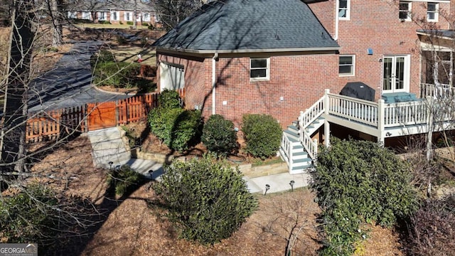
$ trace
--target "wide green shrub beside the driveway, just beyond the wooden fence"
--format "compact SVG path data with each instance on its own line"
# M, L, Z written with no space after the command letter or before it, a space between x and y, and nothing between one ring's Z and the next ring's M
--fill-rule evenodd
M141 70L139 63L103 63L94 71L97 85L130 88L136 85Z

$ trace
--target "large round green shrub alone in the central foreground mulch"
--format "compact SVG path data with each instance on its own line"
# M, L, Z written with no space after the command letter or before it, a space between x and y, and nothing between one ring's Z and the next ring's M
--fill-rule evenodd
M205 154L202 159L173 161L155 183L168 219L181 228L181 238L213 244L229 238L257 208L242 174L227 161Z

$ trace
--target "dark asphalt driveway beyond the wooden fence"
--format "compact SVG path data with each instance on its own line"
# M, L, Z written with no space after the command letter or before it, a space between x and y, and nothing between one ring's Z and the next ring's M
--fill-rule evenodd
M33 80L29 90L29 112L60 110L86 103L122 100L131 95L102 92L92 86L90 56L100 41L78 41L65 53L53 70Z

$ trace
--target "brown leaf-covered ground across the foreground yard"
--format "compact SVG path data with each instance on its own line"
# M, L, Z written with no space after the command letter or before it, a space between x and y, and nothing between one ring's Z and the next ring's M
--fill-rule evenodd
M90 152L87 137L77 137L43 159L37 157L38 163L33 166L36 173L70 177L48 182L67 194L87 196L98 208L107 209L101 223L90 230L91 235L69 245L74 255L284 255L284 238L289 235L291 225L284 215L298 217L302 226L294 245L294 251L300 252L296 255L316 255L321 247L315 229L320 210L309 189L257 195L259 209L247 223L231 238L205 247L178 239L178 231L171 223L156 215L161 210L148 207L147 202L154 198L150 183L122 200L106 198L106 171L93 167ZM276 232L264 232L272 220L276 220L272 225ZM369 228L370 236L360 245L364 255L402 255L397 233L380 227Z

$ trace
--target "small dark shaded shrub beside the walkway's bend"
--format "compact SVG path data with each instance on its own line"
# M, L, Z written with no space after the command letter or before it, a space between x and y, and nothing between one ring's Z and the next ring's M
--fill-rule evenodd
M123 196L131 193L141 183L144 177L131 169L128 165L123 165L120 169L109 171L106 182L111 188L114 188L117 196Z

